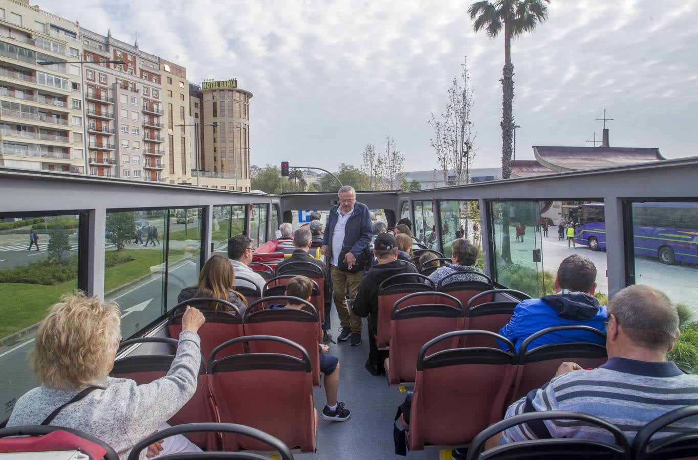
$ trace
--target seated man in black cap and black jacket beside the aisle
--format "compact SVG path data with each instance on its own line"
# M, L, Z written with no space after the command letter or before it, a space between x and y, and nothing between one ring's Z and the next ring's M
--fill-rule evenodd
M371 267L366 273L354 300L353 313L357 316L369 317L369 359L366 361L366 370L374 376L385 374L383 360L387 358L387 351L378 350L376 345L376 333L378 331L378 286L380 283L400 273L418 273L417 268L408 261L397 258L397 242L389 233L380 233L373 243L373 254L378 259L378 264ZM400 279L399 282L419 282L419 278Z

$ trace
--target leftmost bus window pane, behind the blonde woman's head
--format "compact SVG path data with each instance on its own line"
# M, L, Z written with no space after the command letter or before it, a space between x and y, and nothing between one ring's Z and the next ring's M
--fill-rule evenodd
M61 295L77 289L79 217L0 222L0 422L36 386L27 362L36 325Z

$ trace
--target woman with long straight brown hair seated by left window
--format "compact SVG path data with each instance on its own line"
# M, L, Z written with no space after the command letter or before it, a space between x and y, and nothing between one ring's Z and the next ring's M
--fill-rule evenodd
M199 284L184 288L177 296L177 302L184 302L195 297L215 297L228 300L235 305L240 313L247 308L245 297L233 289L235 287L235 269L230 265L228 257L215 254L211 256L201 269ZM228 305L214 302L211 305L202 305L200 302L191 304L200 309L214 309L228 311Z

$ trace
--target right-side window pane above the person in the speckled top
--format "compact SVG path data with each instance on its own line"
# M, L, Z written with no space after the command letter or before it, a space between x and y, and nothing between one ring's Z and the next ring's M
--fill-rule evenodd
M477 208L477 201L439 201L439 212L441 246L445 257L451 256L451 244L456 238L468 238L474 245L480 245L480 209ZM483 268L481 258L477 259L476 265Z

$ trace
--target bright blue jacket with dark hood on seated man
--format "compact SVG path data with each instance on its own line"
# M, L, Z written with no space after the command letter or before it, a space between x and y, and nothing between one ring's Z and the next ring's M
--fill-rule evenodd
M500 329L500 335L510 339L517 351L526 337L539 330L558 325L587 325L606 332L604 321L608 313L606 305L581 292L567 292L519 302L514 315L507 325ZM563 330L551 332L528 345L528 350L545 344L560 342L593 342L604 344L604 339L592 332ZM500 347L506 349L500 342Z

